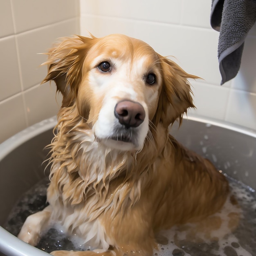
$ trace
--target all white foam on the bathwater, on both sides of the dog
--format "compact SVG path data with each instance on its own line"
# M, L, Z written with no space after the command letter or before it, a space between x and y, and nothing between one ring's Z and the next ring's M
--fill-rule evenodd
M255 234L256 232L256 227L255 227L256 196L254 194L255 191L243 185L240 182L236 182L230 179L229 177L227 178L229 179L229 184L231 187L232 194L235 195L236 199L241 205L241 209L231 204L230 200L227 200L222 211L215 213L213 216L211 216L211 217L221 218L222 220L221 228L211 231L210 236L207 236L207 238L204 232L196 232L196 237L193 237L193 239L191 240L191 245L193 246L189 245L190 241L188 240L188 237L191 238L189 234L191 234L190 233L191 231L200 227L200 225L202 226L202 223L186 224L183 227L174 226L172 229L168 231L162 231L160 234L166 238L166 243L164 243L164 245L159 244L158 250L154 251L154 254L153 254L154 256L156 255L170 256L172 255L172 252L175 249L176 249L175 252L176 253L180 252L180 255L184 255L184 256L196 255L194 252L192 253L190 247L193 247L192 249L197 249L199 252L199 255L200 255L200 249L202 249L202 252L204 253L205 252L211 253L211 255L228 255L227 252L225 252L225 248L230 247L232 250L236 252L237 255L252 256L252 254L248 252L245 248L243 248L242 245L245 245L245 247L247 248L250 248L250 247L254 247L254 249L256 248L255 238L253 238L253 240L249 242L249 240L252 238L251 234ZM40 187L38 185L35 187L36 189L32 190L30 192L30 195L35 195L35 193L37 195L45 194L46 187ZM27 198L26 197L23 198L23 202L24 204L31 204L31 196ZM14 210L13 216L16 216L19 209L16 208L13 210ZM236 232L232 233L228 227L228 223L229 223L228 215L231 212L237 213L237 215L240 215L240 229L242 230L241 231L242 235L240 234L240 237L236 236ZM243 221L245 220L249 223L249 226L248 224L247 226L243 224ZM56 229L58 230L56 236L54 235L54 241L57 242L56 247L58 246L58 247L61 247L62 249L65 249L65 240L63 240L63 237L65 237L64 235L65 231L61 228L61 226L56 227ZM249 232L248 232L248 229L249 229ZM241 243L242 241L240 241L241 236L243 236L243 243ZM214 237L218 238L218 241L213 242L211 238L214 238ZM46 239L47 239L47 236L46 236ZM93 249L90 247L85 247L85 245L83 244L84 240L81 240L76 235L74 235L72 238L69 238L69 240L72 241L75 247L74 249L76 250ZM200 241L200 243L196 243L196 241ZM45 250L46 250L47 248L49 248L49 246L48 246L48 242L45 242L45 243L46 243L45 245ZM236 245L235 247L233 246L234 244ZM207 251L205 251L206 249ZM251 250L253 250L253 248Z

